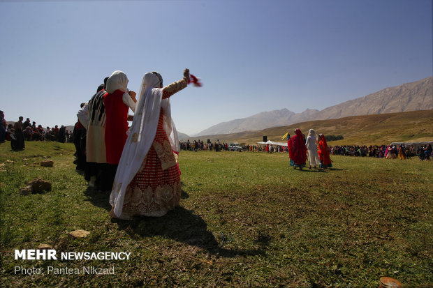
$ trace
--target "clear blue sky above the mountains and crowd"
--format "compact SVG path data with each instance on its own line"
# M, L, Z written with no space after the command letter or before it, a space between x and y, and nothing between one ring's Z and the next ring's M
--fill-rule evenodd
M171 98L189 135L274 109L323 109L432 76L431 0L2 1L0 109L73 125L122 70L129 89L184 68ZM132 113L132 112L131 112Z

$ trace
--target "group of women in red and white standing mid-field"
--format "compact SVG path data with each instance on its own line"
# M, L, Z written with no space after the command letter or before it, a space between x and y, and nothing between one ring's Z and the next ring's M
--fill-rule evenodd
M317 137L313 129L309 130L307 139L305 139L300 129L295 129L295 135L292 137L287 133L287 146L290 165L294 169L299 168L302 170L306 166L307 156L309 169L311 167L323 169L332 167L325 135L319 134Z

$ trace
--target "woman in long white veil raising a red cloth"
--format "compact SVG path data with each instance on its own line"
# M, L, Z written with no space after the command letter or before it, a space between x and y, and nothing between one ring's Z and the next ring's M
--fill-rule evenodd
M182 80L164 88L159 73L146 73L143 77L131 131L110 195L111 217L125 220L133 215L159 217L179 204L180 147L169 98L188 82L188 69L184 70Z

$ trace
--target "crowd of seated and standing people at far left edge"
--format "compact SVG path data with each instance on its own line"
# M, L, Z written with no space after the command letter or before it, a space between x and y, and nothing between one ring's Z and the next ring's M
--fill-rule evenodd
M21 151L25 148L25 141L55 141L55 142L72 142L72 133L66 129L66 126L36 126L36 122L31 122L29 118L23 121L24 117L20 116L18 121L8 124L4 118L4 112L0 111L0 143L10 141L10 148L13 151Z

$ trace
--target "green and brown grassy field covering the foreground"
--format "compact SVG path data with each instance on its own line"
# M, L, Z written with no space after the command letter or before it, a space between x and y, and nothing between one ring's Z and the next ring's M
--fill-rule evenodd
M0 146L4 287L432 287L433 162L334 156L294 170L288 154L182 151L182 201L162 218L112 220L108 195L75 172L72 144ZM41 167L49 158L54 167ZM20 195L39 177L52 190ZM86 238L68 235L75 229ZM131 252L114 260L15 260L40 243L60 252ZM15 266L42 268L15 274ZM47 275L47 268L115 268Z

